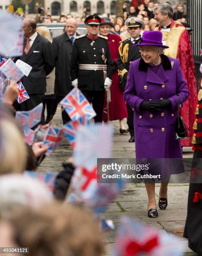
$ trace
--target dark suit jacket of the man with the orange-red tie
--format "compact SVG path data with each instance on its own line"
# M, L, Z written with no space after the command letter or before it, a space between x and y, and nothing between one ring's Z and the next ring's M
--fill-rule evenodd
M24 49L27 39L24 40ZM37 35L28 54L20 59L32 67L28 77L22 78L22 83L28 94L46 92L46 75L54 69L54 52L51 43L44 37Z

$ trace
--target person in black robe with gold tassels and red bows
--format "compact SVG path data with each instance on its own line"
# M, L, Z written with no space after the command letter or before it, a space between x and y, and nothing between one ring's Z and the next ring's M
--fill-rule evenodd
M201 64L202 67L202 64ZM202 72L202 70L201 70ZM184 237L188 238L189 248L202 255L202 77L199 82L196 119L194 122L194 156L189 185L187 220Z

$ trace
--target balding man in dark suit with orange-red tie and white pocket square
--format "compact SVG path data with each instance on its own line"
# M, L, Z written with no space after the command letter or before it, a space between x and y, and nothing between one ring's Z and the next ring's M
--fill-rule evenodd
M31 110L43 102L46 92L46 76L54 69L54 52L51 43L36 32L36 20L25 18L23 20L25 35L24 52L20 60L32 67L28 77L22 78L22 83L30 99L17 106L20 110ZM42 116L41 122L43 123Z

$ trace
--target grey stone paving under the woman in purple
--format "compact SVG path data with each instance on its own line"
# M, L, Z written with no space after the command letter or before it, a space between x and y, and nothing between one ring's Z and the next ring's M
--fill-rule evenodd
M58 107L58 110L59 107ZM61 118L58 115L53 125L61 126ZM129 135L120 135L119 122L111 122L114 128L113 136L113 158L134 158L135 145L128 143ZM127 127L127 125L126 125ZM72 148L69 146L67 139L62 140L61 146L54 151L49 157L46 157L41 163L38 171L57 172L62 169L62 164L72 156ZM183 149L183 157L192 158L191 148ZM168 207L166 210L158 210L158 218L147 217L147 194L144 184L125 184L121 194L110 203L104 213L104 217L113 220L115 229L103 235L106 243L106 256L113 255L112 250L115 245L115 236L118 230L120 217L127 215L141 223L151 225L162 232L168 233L170 236L175 234L177 239L181 240L186 245L185 255L194 256L187 246L187 239L182 237L184 223L187 215L187 197L189 184L170 184L168 189ZM159 198L159 184L156 184L156 200Z

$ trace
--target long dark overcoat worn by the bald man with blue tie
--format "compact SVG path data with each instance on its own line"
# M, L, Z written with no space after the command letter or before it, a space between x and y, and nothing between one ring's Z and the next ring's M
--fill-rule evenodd
M76 34L79 36L79 34ZM72 41L65 32L53 39L52 46L55 56L55 87L54 93L66 96L72 89L70 79L70 64L72 57Z

